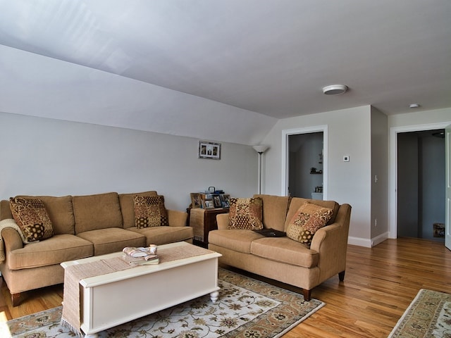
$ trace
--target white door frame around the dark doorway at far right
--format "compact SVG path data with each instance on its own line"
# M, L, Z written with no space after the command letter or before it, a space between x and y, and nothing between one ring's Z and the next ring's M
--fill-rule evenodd
M400 132L420 132L423 130L445 129L451 122L429 123L390 127L390 187L388 238L397 238L397 134Z

